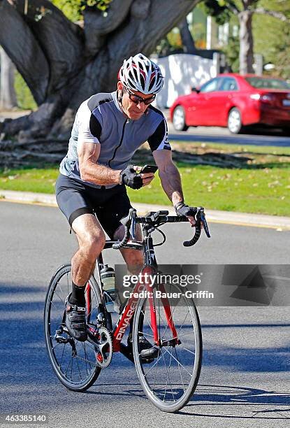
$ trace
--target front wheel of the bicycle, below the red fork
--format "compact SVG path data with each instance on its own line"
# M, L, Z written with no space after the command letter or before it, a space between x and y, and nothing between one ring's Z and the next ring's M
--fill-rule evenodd
M161 411L176 412L184 407L196 389L201 372L201 324L194 301L186 296L186 288L164 285L170 306L166 317L163 301L156 297L158 355L151 362L140 357L138 336L154 343L149 299L140 299L133 321L133 356L138 378L148 399ZM177 298L173 294L178 293ZM173 296L173 297L172 297ZM143 319L144 318L144 319ZM174 327L172 327L174 324Z

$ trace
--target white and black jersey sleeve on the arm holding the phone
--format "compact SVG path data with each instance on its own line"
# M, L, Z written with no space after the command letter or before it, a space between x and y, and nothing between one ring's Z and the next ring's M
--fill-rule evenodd
M101 124L87 105L78 111L78 142L100 143Z

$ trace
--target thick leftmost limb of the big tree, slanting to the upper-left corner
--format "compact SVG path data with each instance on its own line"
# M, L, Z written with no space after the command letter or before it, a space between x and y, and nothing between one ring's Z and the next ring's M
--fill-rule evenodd
M37 104L47 94L50 70L41 46L17 10L0 0L0 44L24 77Z

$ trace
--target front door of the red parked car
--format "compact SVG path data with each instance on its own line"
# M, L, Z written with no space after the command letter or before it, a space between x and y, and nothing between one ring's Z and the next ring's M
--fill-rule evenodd
M219 101L219 85L221 78L213 78L205 83L198 93L194 109L194 124L197 126L215 126L221 108Z

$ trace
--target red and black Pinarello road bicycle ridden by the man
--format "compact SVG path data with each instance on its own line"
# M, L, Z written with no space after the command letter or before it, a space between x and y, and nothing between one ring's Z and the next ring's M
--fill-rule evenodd
M196 230L194 237L183 243L186 247L198 241L202 229L210 237L203 208L194 208L194 213ZM60 266L52 276L45 299L45 342L52 368L68 390L87 390L101 370L108 368L113 354L122 352L135 364L147 398L161 411L179 411L191 398L198 383L202 359L201 324L196 306L193 299L187 297L187 288L179 283L169 280L152 286L150 280L159 273L154 247L166 241L159 227L175 222L188 222L188 218L170 216L168 211L138 217L131 208L129 215L122 219L124 238L122 241L106 241L104 249L143 251L142 276L120 309L117 323L113 323L112 313L106 310L106 292L103 292L100 274L103 255L99 256L94 276L85 286L85 342L71 337L65 324L65 299L71 291L71 265ZM142 227L143 241L136 241L137 223ZM153 231L161 233L161 243L153 243ZM132 318L132 348L129 348L122 339ZM141 355L140 336L156 348L154 357L146 359Z

